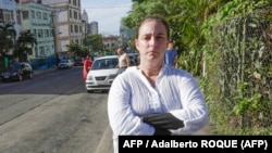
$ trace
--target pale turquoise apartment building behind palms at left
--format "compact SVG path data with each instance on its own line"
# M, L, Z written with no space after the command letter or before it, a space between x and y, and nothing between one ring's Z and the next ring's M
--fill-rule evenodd
M22 12L21 31L30 30L37 40L27 59L48 58L55 54L52 24L52 8L37 2L22 2L18 5Z

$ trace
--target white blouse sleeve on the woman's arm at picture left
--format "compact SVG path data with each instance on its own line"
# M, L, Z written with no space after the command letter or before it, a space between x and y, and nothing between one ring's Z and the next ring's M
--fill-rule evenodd
M122 77L122 76L120 76ZM115 78L109 92L108 114L112 130L116 135L153 135L154 129L145 124L131 103L131 86ZM134 97L140 97L135 93Z

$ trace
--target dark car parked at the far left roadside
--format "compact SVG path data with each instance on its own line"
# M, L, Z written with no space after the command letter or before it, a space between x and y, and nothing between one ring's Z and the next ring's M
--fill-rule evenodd
M21 81L23 79L33 78L33 67L27 62L18 62L12 64L9 68L4 69L1 74L1 79L3 82L9 80Z

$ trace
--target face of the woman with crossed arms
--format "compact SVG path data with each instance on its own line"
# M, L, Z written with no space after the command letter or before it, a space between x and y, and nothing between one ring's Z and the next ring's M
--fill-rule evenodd
M161 22L148 21L141 24L135 44L140 54L140 61L149 61L152 64L163 62L168 48L168 34Z

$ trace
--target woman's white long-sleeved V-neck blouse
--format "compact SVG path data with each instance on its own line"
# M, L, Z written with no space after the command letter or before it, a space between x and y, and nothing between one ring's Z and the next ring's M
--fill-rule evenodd
M163 66L153 88L136 66L131 66L114 79L108 98L114 153L120 135L153 135L154 128L140 119L153 113L171 113L184 122L183 128L171 130L174 135L191 135L208 120L206 101L189 73Z

